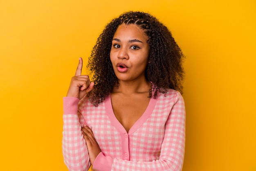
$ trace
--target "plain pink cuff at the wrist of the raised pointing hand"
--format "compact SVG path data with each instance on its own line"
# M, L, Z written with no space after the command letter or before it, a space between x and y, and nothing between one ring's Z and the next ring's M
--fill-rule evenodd
M77 114L79 99L76 97L63 97L64 114Z

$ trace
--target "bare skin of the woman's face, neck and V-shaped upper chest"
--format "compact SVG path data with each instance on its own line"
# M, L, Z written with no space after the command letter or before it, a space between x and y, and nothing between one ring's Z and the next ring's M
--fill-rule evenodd
M145 77L149 54L147 40L135 24L121 24L112 40L110 60L120 83L111 93L112 108L127 132L144 113L150 100L150 82ZM126 72L119 72L120 63L127 66Z

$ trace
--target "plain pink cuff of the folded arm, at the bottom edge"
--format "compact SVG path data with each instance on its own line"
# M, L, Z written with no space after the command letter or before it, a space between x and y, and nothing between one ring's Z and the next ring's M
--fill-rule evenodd
M104 154L100 152L96 157L92 168L99 171L111 171L112 164L112 157L104 156Z

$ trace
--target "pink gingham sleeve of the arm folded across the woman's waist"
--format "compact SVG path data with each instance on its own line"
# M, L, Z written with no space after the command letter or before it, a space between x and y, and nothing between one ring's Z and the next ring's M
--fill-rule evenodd
M100 153L94 162L93 168L100 171L181 171L185 150L185 106L184 100L179 92L176 92L173 100L173 105L169 106L171 107L169 109L170 113L164 125L164 139L158 160L147 162L129 161L111 158ZM166 105L161 104L159 106L157 111L162 112L162 110L166 110L164 109ZM150 130L152 127L148 126L147 129ZM147 141L146 139L145 141Z

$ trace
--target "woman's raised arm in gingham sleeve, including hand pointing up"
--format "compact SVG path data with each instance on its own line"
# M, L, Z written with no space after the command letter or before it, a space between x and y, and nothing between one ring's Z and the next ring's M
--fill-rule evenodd
M81 125L85 124L79 112L79 99L84 103L85 94L90 92L94 83L90 82L88 75L81 75L83 60L79 58L75 76L72 77L67 97L63 99L63 157L70 171L85 171L90 167L88 150L81 132ZM83 99L82 99L83 98Z

